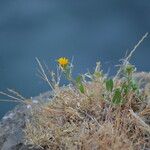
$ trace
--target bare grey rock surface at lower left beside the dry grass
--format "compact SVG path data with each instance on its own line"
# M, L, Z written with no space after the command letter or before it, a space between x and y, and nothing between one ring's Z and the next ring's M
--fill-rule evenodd
M33 106L52 98L51 92L32 98ZM24 144L26 121L30 119L31 109L28 105L18 105L9 111L0 122L0 150L40 150Z

